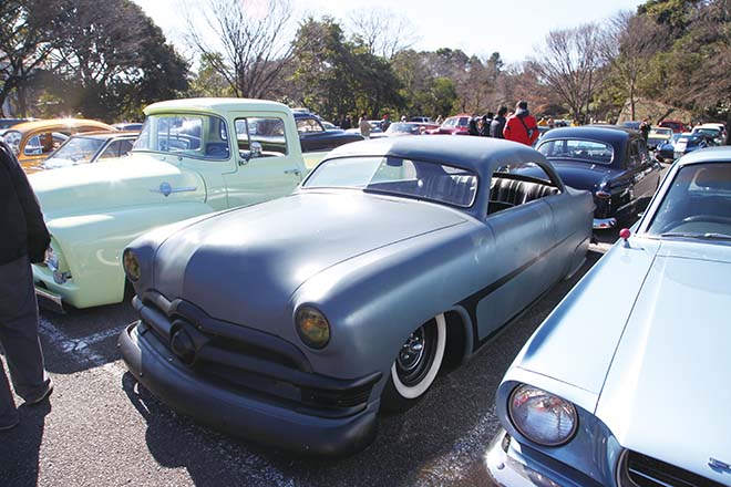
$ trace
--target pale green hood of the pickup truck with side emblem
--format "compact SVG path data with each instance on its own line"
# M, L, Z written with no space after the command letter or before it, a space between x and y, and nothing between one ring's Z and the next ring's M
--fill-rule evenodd
M28 179L47 219L124 206L206 200L197 173L146 154L45 170Z

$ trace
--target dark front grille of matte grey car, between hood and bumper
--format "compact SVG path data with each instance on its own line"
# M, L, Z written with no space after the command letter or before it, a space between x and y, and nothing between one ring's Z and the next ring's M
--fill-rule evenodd
M381 374L358 380L319 375L295 345L280 338L215 320L189 302L157 301L137 301L135 308L161 346L178 354L192 373L260 401L316 416L344 417L366 408L380 379ZM194 349L189 362L181 348L172 346L177 331L188 336L181 343Z

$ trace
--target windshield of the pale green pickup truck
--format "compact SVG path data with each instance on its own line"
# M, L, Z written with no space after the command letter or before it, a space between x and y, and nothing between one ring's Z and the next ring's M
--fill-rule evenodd
M132 151L225 159L229 157L226 122L213 115L150 115Z

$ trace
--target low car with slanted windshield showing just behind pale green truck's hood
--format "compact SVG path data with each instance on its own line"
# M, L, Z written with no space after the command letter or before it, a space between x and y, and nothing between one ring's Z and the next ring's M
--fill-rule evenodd
M43 169L58 169L125 156L132 151L138 132L89 132L72 135L42 164Z

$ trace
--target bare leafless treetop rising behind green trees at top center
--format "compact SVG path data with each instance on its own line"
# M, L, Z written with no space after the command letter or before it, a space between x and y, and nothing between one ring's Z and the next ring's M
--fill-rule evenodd
M393 59L418 40L413 24L388 9L359 9L349 15L352 37L366 45L369 54Z

